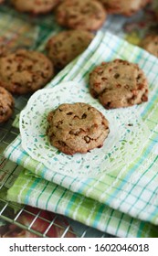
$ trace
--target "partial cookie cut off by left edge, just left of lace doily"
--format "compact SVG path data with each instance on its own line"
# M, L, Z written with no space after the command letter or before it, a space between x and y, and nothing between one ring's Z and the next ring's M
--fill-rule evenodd
M0 87L0 123L5 123L13 114L15 101L12 94Z

